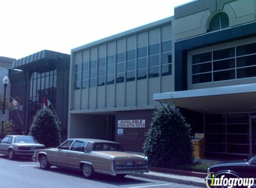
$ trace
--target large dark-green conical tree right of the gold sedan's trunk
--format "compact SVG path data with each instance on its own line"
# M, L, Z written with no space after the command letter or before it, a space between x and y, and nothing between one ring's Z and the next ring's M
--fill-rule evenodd
M155 109L150 129L146 133L143 150L151 166L171 168L193 163L190 126L171 103Z

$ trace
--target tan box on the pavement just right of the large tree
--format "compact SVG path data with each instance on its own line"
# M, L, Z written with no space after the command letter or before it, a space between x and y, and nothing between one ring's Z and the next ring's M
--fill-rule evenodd
M205 134L196 133L194 139L192 139L194 146L194 157L195 158L204 158L205 153Z

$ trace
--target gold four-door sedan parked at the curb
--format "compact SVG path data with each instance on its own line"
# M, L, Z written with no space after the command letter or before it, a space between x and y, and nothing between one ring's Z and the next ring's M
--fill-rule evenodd
M90 178L97 173L124 177L148 172L147 157L124 152L119 143L100 139L67 139L57 148L36 150L34 161L50 166L81 170Z

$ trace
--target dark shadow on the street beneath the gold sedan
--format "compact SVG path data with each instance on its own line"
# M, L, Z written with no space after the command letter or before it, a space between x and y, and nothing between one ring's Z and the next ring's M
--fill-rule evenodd
M38 168L38 167L34 167ZM42 170L41 168L38 168ZM112 176L112 175L105 175L105 174L95 174L95 176L91 179L86 179L81 171L77 170L72 170L72 169L67 169L67 168L55 168L52 167L48 171L50 172L55 172L67 176L74 176L76 178L82 178L84 180L91 180L91 181L97 181L101 183L106 183L106 184L112 184L112 185L129 185L129 184L145 184L145 183L152 183L150 181L145 181L145 180L138 180L138 179L133 179L130 177L124 177L124 178L118 178L117 176Z

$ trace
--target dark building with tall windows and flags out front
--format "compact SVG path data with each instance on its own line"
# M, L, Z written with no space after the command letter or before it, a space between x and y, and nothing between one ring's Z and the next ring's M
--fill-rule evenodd
M20 107L10 112L18 131L29 133L34 115L43 107L45 96L55 110L63 138L67 137L70 55L43 50L13 61L9 71L11 96Z

